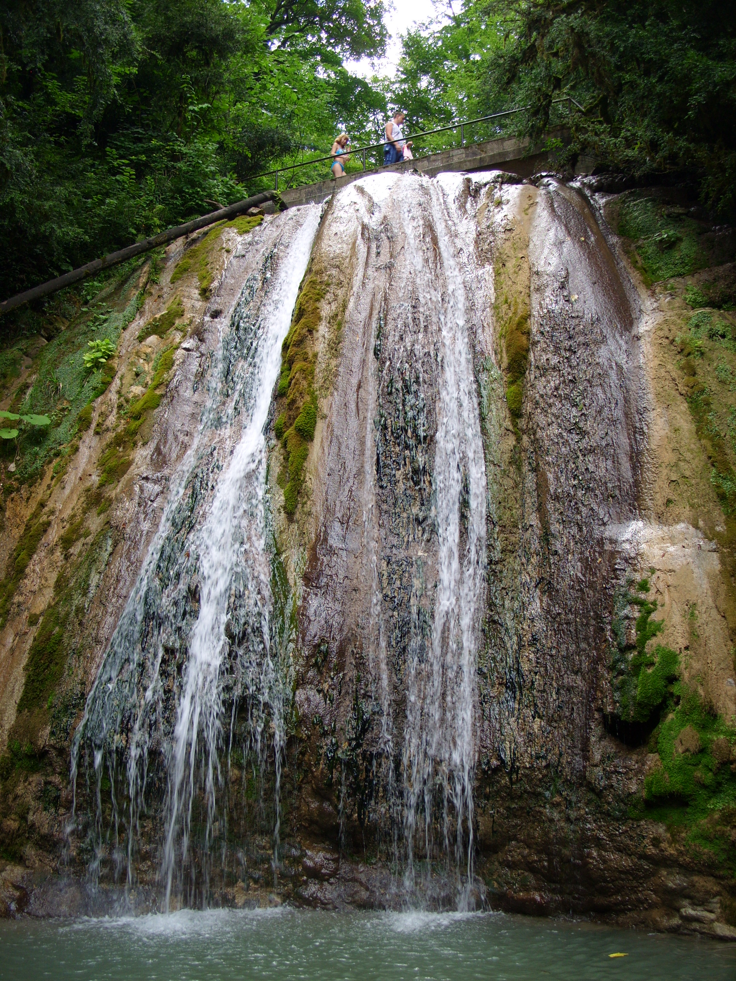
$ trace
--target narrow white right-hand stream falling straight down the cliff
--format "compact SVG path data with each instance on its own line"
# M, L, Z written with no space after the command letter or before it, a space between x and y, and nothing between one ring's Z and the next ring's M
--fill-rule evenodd
M464 856L467 889L472 880L475 669L484 597L486 478L465 290L450 239L454 191L451 180L433 182L429 189L439 266L431 288L442 337L433 476L439 562L428 662L414 659L409 667L403 824L411 884L417 819L423 811L424 847L429 855L439 784L445 848L448 852L449 798L454 811L455 858L459 868ZM408 241L414 240L412 232L407 230ZM421 275L424 259L416 250L414 261ZM463 902L462 894L459 902Z

